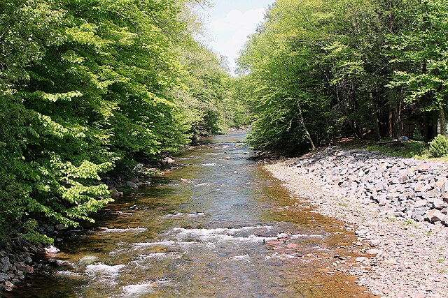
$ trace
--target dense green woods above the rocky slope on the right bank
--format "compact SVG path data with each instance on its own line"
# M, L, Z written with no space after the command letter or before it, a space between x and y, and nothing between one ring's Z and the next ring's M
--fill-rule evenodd
M447 1L277 0L265 19L239 58L255 147L428 141L446 126Z

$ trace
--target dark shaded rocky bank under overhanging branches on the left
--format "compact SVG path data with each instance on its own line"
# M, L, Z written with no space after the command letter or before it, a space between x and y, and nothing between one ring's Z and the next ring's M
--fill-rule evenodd
M137 192L140 187L151 186L151 177L170 170L174 166L172 156L163 156L159 161L151 164L139 164L127 177L118 174L102 177L102 184L108 186L112 198L120 198L123 195L142 195ZM104 210L99 210L102 214ZM54 246L45 244L30 244L22 237L17 237L9 241L8 245L0 249L0 294L2 291L10 292L17 288L16 284L23 281L26 276L39 272L47 274L50 267L64 267L68 264L58 260L56 254L59 253L59 246L63 246L65 241L80 237L88 229L69 228L62 224L41 223L38 231L54 239Z

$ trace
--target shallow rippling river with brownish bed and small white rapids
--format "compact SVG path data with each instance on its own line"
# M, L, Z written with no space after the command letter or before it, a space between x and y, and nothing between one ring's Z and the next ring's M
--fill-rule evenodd
M144 195L109 204L60 247L71 266L32 275L10 297L371 297L328 269L356 256L353 234L248 160L245 133L177 156Z

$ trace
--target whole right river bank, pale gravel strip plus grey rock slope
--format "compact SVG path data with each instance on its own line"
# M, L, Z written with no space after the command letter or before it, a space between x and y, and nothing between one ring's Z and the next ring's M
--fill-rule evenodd
M265 167L316 212L353 229L353 246L370 258L339 269L372 294L447 297L446 164L331 147Z

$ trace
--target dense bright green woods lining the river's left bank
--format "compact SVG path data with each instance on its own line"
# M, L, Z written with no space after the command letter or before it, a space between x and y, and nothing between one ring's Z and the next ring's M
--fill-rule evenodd
M193 38L196 5L1 2L0 246L92 221L111 201L100 177L245 121L225 64Z

